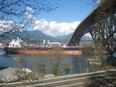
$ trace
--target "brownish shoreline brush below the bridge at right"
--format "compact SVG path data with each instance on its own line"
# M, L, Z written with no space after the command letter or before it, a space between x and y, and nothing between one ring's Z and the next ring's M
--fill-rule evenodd
M101 44L99 44L97 48L92 42L81 42L80 45L84 47L83 56L89 57L86 62L88 65L87 72L114 68L111 65L107 64L107 56L105 55L107 51L106 49L103 49ZM82 63L84 62L82 62L81 56L78 58L80 58L80 60L78 59L79 62L77 63L77 65L79 66L80 73L86 72L83 71Z

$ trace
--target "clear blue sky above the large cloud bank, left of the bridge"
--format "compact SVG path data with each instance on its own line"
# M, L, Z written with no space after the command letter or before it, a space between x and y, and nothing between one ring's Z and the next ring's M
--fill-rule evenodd
M82 21L93 9L92 0L54 0L58 9L50 13L41 13L38 19L47 21L73 22Z

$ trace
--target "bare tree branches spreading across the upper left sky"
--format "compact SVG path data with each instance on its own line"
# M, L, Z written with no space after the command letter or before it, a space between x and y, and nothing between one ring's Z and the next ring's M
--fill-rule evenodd
M0 0L0 37L23 29L35 20L33 15L56 8L49 0Z

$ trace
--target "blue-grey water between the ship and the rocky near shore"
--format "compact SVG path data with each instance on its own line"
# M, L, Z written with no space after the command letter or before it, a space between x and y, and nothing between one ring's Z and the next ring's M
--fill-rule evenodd
M86 72L88 58L76 55L0 54L0 67L26 67L37 73L66 75Z

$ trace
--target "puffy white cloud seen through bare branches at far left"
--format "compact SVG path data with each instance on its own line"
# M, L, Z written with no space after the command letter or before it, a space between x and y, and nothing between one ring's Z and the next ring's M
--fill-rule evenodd
M33 16L33 13L33 9L27 6L24 13L26 19L23 21L23 23L15 23L11 20L0 20L0 33L4 33L12 29L13 31L23 29L25 24L32 23L34 20L36 20L36 18Z

